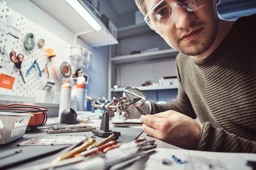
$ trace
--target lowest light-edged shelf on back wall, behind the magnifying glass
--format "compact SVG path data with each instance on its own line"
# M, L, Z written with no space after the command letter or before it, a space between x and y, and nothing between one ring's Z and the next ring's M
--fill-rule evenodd
M121 91L124 91L125 88L116 88L116 89L111 88L111 92L121 92ZM135 88L138 88L141 91L169 90L169 89L178 89L178 85L159 85L159 86L149 85L149 86L138 86Z

